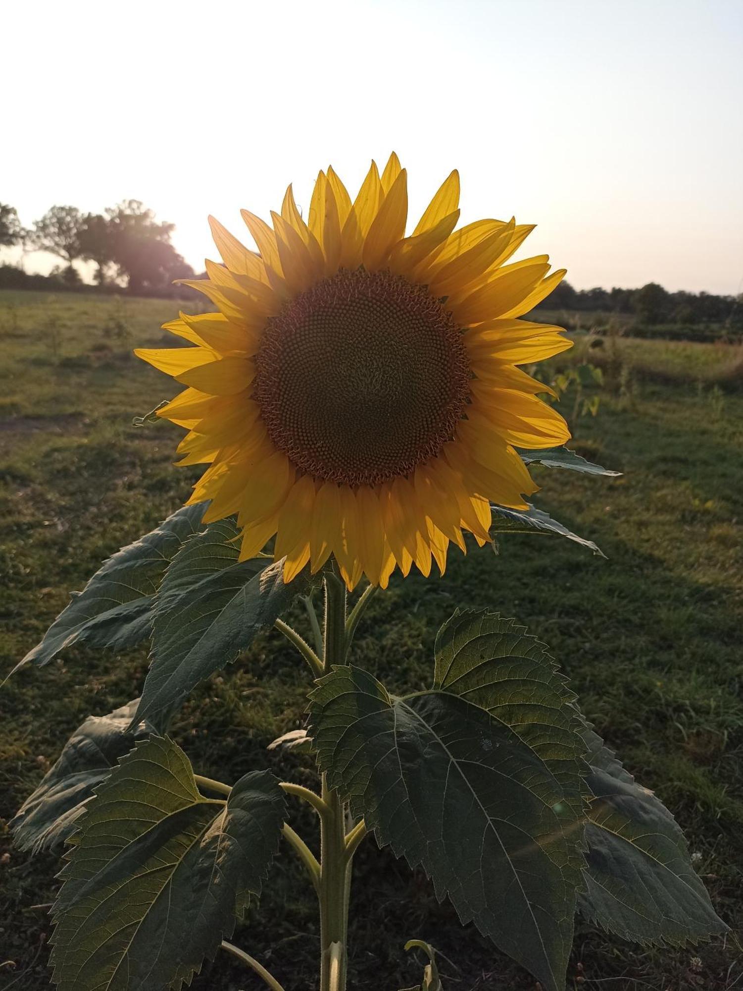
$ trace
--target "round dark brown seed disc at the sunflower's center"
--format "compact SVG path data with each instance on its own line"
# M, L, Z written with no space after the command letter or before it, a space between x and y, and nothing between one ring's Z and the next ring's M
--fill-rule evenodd
M254 396L297 469L342 485L408 475L451 440L470 391L451 313L388 272L340 271L265 326Z

